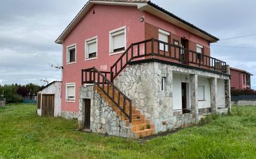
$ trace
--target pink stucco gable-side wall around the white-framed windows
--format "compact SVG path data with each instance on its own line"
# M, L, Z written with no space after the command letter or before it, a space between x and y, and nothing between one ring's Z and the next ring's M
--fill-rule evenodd
M95 14L93 14L93 10ZM136 7L95 5L63 42L62 111L78 111L78 90L81 87L81 69L95 66L107 69L121 54L109 56L109 31L126 26L126 43L145 40L145 24L140 22L144 12ZM85 61L85 40L98 36L98 59ZM66 46L76 43L76 63L66 65ZM75 103L65 101L66 83L76 84Z

